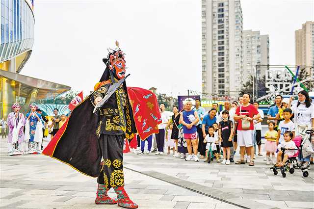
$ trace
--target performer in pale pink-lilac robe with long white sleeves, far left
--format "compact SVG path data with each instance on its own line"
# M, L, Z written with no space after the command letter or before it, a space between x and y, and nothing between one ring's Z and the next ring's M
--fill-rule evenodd
M25 117L20 112L20 104L13 104L12 109L13 112L10 112L7 118L9 127L8 156L23 155Z

